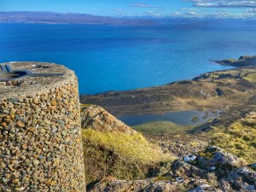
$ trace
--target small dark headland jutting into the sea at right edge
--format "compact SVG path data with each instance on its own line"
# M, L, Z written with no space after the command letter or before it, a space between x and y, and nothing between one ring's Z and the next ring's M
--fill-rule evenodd
M220 61L215 61L220 65L224 66L234 66L234 67L248 67L248 66L255 66L256 65L256 55L248 55L248 56L241 56L238 60L234 59L225 59Z

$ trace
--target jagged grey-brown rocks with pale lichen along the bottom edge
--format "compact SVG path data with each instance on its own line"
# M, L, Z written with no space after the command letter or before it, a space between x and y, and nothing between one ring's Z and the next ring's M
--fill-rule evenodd
M156 173L156 177L133 181L108 177L89 191L255 191L256 164L242 165L236 155L213 146L199 154L183 156L171 168L166 166L166 172Z

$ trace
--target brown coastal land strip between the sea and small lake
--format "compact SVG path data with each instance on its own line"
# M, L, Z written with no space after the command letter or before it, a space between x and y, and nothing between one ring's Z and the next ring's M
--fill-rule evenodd
M255 64L144 89L81 95L80 102L99 105L115 116L221 110L220 119L239 118L256 110Z

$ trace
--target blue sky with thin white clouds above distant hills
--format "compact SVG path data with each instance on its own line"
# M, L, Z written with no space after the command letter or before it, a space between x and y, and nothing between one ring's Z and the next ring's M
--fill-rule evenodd
M256 18L256 0L1 0L0 11L51 11L103 16Z

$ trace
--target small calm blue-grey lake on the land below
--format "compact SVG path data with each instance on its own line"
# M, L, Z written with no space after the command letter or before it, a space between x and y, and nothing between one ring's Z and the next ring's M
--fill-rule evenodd
M118 119L130 126L141 125L152 121L171 121L177 125L199 125L207 122L209 119L217 118L219 112L212 113L208 111L207 113L201 113L198 111L181 111L165 114L125 115L118 117ZM193 117L197 117L198 120L193 121Z

